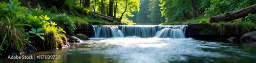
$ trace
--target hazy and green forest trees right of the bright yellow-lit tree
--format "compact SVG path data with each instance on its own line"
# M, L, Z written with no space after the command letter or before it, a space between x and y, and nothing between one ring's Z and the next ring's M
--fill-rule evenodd
M236 11L253 4L254 0L140 0L140 11L129 19L138 23L179 22L197 17L210 17ZM251 15L250 18L255 18Z

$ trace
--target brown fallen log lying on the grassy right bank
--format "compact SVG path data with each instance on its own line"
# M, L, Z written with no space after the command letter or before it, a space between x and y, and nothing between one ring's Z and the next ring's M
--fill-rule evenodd
M221 15L217 15L217 16L212 16L210 17L210 23L213 22L220 22L220 21L231 21L234 19L238 19L241 17L245 17L247 16L249 13L251 14L255 14L256 13L256 4L237 10L237 11L233 11L233 12L228 12L226 14L221 14Z

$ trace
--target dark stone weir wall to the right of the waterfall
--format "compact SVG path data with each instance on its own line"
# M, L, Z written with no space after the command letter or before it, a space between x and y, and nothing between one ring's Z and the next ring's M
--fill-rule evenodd
M193 38L196 40L214 40L214 41L225 41L228 38L236 37L239 39L241 35L236 34L236 30L229 30L224 35L221 35L218 28L212 26L210 23L196 23L189 24L186 27L185 36L186 38Z

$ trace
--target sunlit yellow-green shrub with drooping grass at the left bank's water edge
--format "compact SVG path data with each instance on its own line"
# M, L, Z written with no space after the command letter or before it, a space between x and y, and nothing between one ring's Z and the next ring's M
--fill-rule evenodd
M57 25L55 22L48 22L50 18L46 16L39 16L39 22L42 25L42 29L44 31L44 39L40 36L38 37L32 37L31 41L34 46L43 47L44 49L54 49L58 47L63 47L65 44L67 44L67 40L65 39L65 35L63 33L66 33L61 27L56 27ZM34 30L35 32L35 30ZM42 41L43 40L43 41Z

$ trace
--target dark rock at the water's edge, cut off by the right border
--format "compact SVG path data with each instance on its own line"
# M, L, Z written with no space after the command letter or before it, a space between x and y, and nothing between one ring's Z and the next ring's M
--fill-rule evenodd
M256 42L256 31L245 33L240 38L241 42Z

